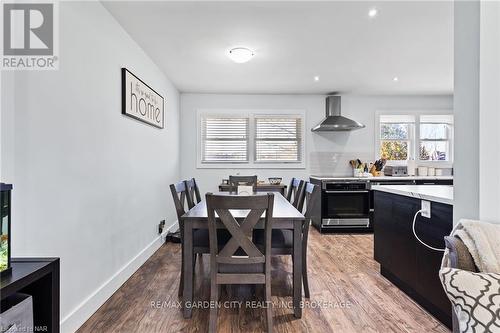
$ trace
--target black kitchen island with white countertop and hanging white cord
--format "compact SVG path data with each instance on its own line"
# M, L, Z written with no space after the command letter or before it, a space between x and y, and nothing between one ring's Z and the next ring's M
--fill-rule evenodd
M448 327L451 305L438 271L444 236L453 227L453 187L444 185L381 185L374 191L374 254L380 273ZM417 213L430 202L430 218Z

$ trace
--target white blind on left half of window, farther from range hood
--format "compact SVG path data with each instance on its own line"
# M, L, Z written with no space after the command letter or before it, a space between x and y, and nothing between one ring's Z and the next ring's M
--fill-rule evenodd
M248 118L203 116L202 162L248 162Z

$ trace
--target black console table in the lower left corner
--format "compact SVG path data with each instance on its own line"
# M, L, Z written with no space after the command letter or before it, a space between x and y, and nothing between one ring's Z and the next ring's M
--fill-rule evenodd
M59 258L12 258L12 274L1 278L1 299L17 292L33 297L35 332L59 332Z

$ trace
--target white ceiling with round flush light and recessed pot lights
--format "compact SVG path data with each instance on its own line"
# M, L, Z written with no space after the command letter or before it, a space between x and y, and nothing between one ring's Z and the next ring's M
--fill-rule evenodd
M451 1L104 6L181 92L453 91ZM372 7L379 10L374 19L368 17ZM250 47L256 56L235 64L226 56L234 46Z

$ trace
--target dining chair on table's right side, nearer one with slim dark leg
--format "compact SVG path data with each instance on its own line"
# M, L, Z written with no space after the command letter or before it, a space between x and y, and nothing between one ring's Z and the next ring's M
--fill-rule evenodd
M318 185L305 182L304 190L302 191L301 198L297 205L297 210L302 212L304 204L306 211L304 217L306 218L302 226L302 282L304 284L304 295L306 298L310 297L309 292L309 279L307 275L307 242L309 238L309 226L313 213L313 207L317 203L320 196L320 189ZM254 232L254 242L256 244L263 244L264 235L260 230ZM271 254L272 255L290 255L293 258L293 231L287 229L273 229L271 235Z

